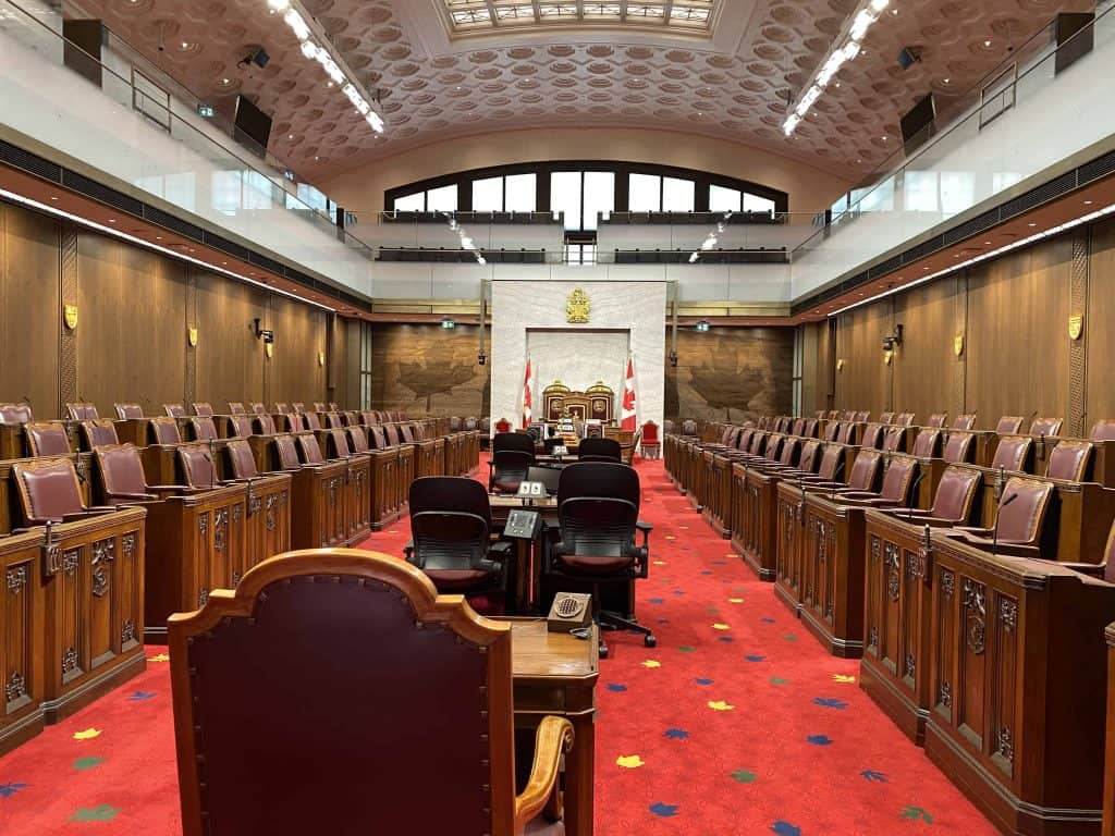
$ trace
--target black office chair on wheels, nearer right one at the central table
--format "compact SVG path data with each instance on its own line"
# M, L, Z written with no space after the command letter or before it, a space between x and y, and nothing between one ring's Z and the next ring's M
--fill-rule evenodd
M640 496L639 474L627 465L579 461L565 467L558 483L559 541L546 550L545 572L551 582L591 583L593 621L601 629L641 633L643 644L653 648L650 628L600 605L601 586L648 575L651 527L639 521ZM637 531L642 545L636 545ZM602 636L600 655L608 657Z

